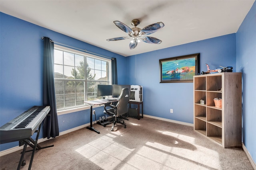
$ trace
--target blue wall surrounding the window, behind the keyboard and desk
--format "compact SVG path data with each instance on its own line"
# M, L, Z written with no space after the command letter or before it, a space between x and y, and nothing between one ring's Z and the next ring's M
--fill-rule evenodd
M0 13L0 126L14 119L32 106L43 104L43 40L50 37L79 49L115 57L118 65L118 82L128 84L124 69L127 57L78 41L66 35ZM96 108L96 113L102 109ZM103 115L104 113L102 113ZM100 115L97 115L100 116ZM90 122L89 110L58 116L60 132ZM42 133L40 135L42 138ZM6 150L18 142L0 145Z

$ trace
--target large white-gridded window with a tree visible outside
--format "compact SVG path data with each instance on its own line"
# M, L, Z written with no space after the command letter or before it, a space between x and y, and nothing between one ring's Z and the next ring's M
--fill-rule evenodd
M54 84L57 111L87 106L98 84L110 84L111 60L54 45Z

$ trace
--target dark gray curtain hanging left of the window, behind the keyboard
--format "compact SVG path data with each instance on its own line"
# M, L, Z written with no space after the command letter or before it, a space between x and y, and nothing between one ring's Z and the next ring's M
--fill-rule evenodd
M51 107L43 127L44 138L49 139L59 135L59 125L54 87L54 43L48 37L44 37L44 106Z

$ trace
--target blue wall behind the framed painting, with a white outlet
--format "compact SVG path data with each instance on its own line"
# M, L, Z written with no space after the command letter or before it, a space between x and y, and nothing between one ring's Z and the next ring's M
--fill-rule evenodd
M143 86L145 114L193 123L193 83L159 83L159 59L195 53L200 53L200 71L207 70L205 63L212 69L233 66L236 71L236 34L129 57L130 84Z

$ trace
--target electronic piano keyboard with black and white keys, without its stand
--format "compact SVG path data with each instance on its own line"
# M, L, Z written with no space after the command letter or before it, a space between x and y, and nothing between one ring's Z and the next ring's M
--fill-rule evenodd
M38 129L50 106L33 106L18 117L0 127L0 143L22 141L30 138Z

